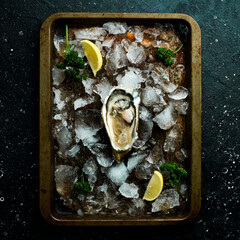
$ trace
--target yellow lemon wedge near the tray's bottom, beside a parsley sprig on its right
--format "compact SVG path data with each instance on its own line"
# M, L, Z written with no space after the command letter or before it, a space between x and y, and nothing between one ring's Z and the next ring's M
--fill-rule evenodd
M154 171L152 178L150 179L147 189L144 193L143 200L153 201L155 200L163 189L163 177L158 171Z

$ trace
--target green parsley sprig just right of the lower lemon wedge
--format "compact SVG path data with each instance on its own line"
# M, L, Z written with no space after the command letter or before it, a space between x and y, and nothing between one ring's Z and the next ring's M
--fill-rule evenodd
M171 187L174 186L174 184L177 184L177 192L179 194L179 182L181 177L187 177L187 171L183 168L179 168L176 163L163 163L161 166L159 166L160 170L167 170L170 172L170 179L169 184Z

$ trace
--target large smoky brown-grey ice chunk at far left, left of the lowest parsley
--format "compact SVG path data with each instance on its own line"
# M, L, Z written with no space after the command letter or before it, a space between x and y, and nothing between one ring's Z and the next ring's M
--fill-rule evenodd
M58 165L55 168L55 181L57 192L62 196L68 196L78 179L78 168L68 165Z

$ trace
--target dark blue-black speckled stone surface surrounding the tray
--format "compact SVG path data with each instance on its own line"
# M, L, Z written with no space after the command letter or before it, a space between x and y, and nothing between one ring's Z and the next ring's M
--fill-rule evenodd
M55 12L186 13L202 30L202 208L188 226L56 227L39 211L39 30ZM0 239L240 239L239 0L0 1ZM132 235L133 234L133 235Z

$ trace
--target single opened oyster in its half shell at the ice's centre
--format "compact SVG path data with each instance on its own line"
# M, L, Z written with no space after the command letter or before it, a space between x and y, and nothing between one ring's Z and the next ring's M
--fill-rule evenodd
M140 96L129 86L120 85L110 90L102 107L102 117L119 163L138 138Z

